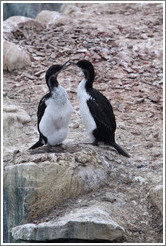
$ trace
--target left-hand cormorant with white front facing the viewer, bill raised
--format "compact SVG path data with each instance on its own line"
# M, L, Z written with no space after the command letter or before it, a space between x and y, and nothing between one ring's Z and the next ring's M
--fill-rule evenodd
M45 80L49 88L39 102L37 111L37 126L39 141L30 149L38 148L43 144L56 146L61 144L67 137L72 106L67 92L59 85L57 76L68 65L53 65L47 71Z

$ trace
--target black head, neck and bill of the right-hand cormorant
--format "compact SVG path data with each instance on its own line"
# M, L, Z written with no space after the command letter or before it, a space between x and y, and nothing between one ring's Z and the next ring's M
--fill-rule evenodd
M85 79L87 80L87 86L92 87L92 83L95 78L95 71L92 63L87 60L80 60L77 63L70 62L71 64L79 67L84 73Z

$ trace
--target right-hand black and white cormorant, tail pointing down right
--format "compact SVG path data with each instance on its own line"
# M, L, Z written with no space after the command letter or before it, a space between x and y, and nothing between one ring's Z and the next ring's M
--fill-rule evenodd
M93 88L95 72L92 63L87 60L70 63L79 67L85 76L79 83L77 95L81 118L91 141L95 145L100 142L110 145L121 155L129 157L129 154L115 142L116 120L110 102Z

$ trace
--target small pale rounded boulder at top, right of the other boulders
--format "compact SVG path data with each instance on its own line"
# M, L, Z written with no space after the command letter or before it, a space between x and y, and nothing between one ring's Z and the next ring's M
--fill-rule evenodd
M62 20L63 16L59 12L42 10L37 16L36 20L42 24L48 26L50 24L56 24L59 20Z

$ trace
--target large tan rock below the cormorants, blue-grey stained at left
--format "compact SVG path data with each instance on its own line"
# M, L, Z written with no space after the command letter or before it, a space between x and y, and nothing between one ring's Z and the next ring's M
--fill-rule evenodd
M42 148L41 148L42 149ZM47 214L67 199L97 190L107 180L108 170L97 152L84 148L74 153L15 155L4 169L5 227L14 227ZM67 150L66 150L67 151ZM16 212L17 211L17 212ZM7 218L10 218L7 220Z

